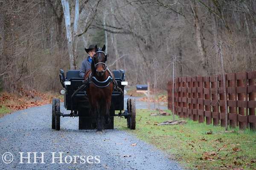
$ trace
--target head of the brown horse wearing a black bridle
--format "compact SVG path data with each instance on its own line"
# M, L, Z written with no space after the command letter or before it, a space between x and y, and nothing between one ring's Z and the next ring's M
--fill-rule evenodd
M102 48L98 48L97 45L95 45L95 53L93 56L93 62L92 67L94 66L94 69L96 70L96 74L99 77L102 77L104 72L107 70L107 54L105 53L105 45L103 45ZM93 70L93 69L92 69Z

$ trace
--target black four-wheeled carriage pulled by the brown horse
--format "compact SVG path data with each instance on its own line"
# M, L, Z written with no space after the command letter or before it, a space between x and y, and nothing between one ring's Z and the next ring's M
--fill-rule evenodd
M119 88L124 91L125 71L114 70L114 77ZM74 94L74 91L79 89L84 84L84 79L79 77L78 70L69 70L66 73L61 69L59 78L61 85L64 88L64 107L70 113L62 113L60 110L60 99L52 99L52 129L60 130L60 117L79 117L79 129L96 129L96 119L90 113L90 104L87 98L86 91L81 90ZM73 95L74 94L74 95ZM73 95L73 96L72 96ZM111 122L105 125L105 129L113 129L114 116L123 116L127 119L127 127L135 129L136 126L136 110L135 99L127 99L127 108L124 109L124 94L119 91L113 91L111 96L110 119Z

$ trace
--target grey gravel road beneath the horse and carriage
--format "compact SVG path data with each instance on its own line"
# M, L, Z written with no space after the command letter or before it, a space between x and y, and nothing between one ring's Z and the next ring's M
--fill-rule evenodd
M61 111L65 111L62 106ZM136 146L131 146L134 143ZM6 152L13 155L9 164L4 163L12 158L3 155ZM38 158L35 164L27 164L28 159L23 158L24 164L20 164L19 152L24 152L23 157L28 156L27 152L38 152L36 157L45 152L44 163ZM54 156L52 152L56 152ZM61 156L59 152L63 152ZM30 157L33 163L34 153ZM63 163L56 157L61 157ZM61 117L60 131L52 130L51 105L44 105L0 118L0 169L177 170L181 167L165 153L121 130L106 130L103 134L78 130L78 118L69 117Z

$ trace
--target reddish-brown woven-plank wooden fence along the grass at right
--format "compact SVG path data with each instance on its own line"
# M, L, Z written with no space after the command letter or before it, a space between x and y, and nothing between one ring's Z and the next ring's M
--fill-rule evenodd
M230 127L256 130L256 71L225 74ZM174 113L207 125L225 126L221 75L178 77L174 82ZM168 82L168 109L172 110L172 81Z

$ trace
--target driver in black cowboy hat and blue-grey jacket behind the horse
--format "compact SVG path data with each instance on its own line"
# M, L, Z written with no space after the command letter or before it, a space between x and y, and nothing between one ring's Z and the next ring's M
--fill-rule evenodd
M93 60L93 56L95 54L95 45L90 45L89 48L84 48L84 49L87 52L87 54L89 54L89 56L86 59L84 59L84 61L82 62L80 72L79 72L79 76L81 78L84 78L85 72L91 68L91 63Z

